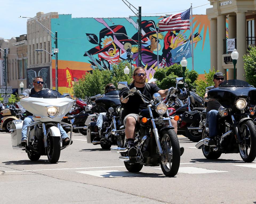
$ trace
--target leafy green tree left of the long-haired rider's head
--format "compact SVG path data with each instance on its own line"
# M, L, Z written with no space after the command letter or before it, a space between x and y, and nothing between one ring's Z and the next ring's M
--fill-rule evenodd
M95 96L96 94L104 94L105 86L108 83L113 83L117 87L117 82L127 81L131 82L131 70L129 74L124 74L123 69L129 63L119 63L113 65L111 70L95 69L92 73L87 73L82 76L74 84L74 95L76 97L84 98L85 96Z

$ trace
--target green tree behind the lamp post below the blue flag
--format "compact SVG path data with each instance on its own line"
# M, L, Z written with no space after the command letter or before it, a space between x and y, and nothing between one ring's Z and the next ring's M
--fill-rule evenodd
M171 65L170 67L160 68L154 74L154 78L157 80L157 86L161 89L175 86L175 79L177 77L183 77L182 66L178 64ZM198 73L196 71L189 71L189 69L186 69L185 82L189 85L189 88L193 88L197 77Z

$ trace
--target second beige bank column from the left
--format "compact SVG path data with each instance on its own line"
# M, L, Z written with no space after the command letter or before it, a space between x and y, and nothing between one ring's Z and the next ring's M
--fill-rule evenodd
M217 69L227 76L227 70L222 67L224 39L226 39L226 16L217 16Z

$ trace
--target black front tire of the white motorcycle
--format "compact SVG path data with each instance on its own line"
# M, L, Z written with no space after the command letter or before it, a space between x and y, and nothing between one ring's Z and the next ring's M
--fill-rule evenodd
M47 157L49 162L57 163L59 156L61 155L61 138L52 137L48 135L47 137Z

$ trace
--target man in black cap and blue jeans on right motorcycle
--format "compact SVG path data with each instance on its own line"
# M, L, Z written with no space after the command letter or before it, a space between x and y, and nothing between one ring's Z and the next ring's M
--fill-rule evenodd
M216 72L213 75L214 88L217 88L221 82L223 82L224 76L221 72ZM207 92L205 93L205 97L203 100L207 99ZM207 100L207 108L206 108L206 122L209 124L209 144L214 145L214 138L218 135L217 132L217 114L221 104L218 101L210 99Z

